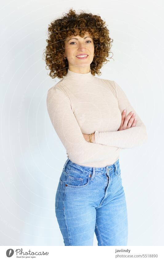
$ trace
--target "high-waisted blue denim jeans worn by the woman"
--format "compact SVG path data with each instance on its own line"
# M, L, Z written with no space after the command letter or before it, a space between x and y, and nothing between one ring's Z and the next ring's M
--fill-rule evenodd
M119 159L106 167L64 164L55 214L65 246L126 246L128 219Z

